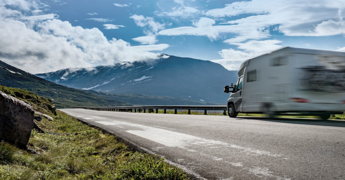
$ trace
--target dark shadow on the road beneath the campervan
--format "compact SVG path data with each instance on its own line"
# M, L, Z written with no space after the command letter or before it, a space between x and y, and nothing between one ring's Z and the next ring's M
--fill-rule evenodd
M269 122L282 122L290 124L306 124L306 125L315 125L315 126L333 126L333 127L345 127L345 121L341 120L317 120L317 119L304 119L304 118L275 118L275 119L266 119L266 117L237 117L236 119L255 119L260 121L269 121Z

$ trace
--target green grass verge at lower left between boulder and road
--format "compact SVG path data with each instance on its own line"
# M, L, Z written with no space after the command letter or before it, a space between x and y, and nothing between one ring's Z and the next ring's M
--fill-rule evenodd
M0 144L0 179L189 179L151 154L129 149L115 136L58 111L55 121L36 122L27 151Z

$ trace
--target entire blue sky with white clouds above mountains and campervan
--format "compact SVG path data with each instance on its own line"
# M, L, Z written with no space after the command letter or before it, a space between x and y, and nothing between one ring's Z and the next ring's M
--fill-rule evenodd
M154 63L238 70L283 47L345 51L344 0L0 0L0 60L30 73Z

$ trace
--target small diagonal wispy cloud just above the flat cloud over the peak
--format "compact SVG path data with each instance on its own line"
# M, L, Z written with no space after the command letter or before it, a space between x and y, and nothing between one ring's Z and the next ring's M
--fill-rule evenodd
M144 28L144 33L150 36L157 33L159 30L165 29L165 23L161 24L156 22L152 17L144 17L142 15L134 14L129 18L134 19L135 24Z

